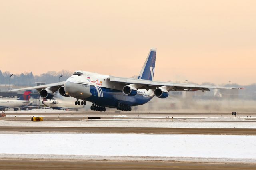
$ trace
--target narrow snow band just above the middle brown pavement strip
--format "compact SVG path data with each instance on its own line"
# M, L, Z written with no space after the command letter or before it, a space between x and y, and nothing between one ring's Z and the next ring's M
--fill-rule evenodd
M50 127L170 127L170 128L256 128L255 122L191 122L191 121L115 121L87 120L80 121L5 121L0 126L50 126Z

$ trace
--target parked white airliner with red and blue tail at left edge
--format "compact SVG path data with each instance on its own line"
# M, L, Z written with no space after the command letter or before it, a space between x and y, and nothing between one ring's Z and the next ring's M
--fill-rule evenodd
M19 99L2 99L0 100L0 107L22 107L33 103L30 101L31 90L25 91Z

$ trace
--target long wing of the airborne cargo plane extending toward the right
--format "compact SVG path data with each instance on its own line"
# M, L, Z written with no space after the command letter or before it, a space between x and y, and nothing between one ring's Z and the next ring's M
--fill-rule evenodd
M132 79L132 78L115 77L115 76L110 76L109 80L115 83L123 83L124 85L135 84L137 87L139 87L138 89L156 89L161 86L166 86L166 89L168 91L190 91L190 90L209 91L210 89L243 89L239 87L220 87L220 86L196 85L196 84L186 84L186 83L171 83L171 82Z

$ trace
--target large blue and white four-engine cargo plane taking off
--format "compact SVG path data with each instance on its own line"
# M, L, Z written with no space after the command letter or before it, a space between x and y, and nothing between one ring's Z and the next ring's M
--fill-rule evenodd
M88 71L75 71L66 81L11 91L37 89L40 97L52 99L58 90L62 96L76 98L75 105L92 102L91 109L106 111L106 107L131 111L132 106L143 105L154 96L168 97L169 91L209 91L210 89L242 89L186 83L153 81L155 74L156 49L150 49L138 79L102 75ZM78 101L81 99L82 101Z

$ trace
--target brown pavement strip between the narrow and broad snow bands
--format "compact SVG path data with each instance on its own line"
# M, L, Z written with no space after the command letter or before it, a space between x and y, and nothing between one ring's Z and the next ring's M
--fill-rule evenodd
M123 134L230 134L256 135L254 128L156 128L156 127L0 127L1 132L78 132Z

